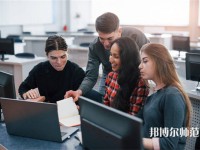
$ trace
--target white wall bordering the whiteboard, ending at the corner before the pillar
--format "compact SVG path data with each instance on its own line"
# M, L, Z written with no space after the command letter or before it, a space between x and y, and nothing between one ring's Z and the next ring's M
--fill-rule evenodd
M22 31L31 31L33 34L43 34L45 31L62 31L63 26L69 24L69 1L53 0L53 23L38 25L0 25L1 37L6 37L9 34L21 34ZM24 11L24 13L28 12Z

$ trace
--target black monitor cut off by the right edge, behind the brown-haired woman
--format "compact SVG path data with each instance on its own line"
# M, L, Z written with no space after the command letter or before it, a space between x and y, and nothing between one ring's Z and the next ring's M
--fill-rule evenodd
M187 53L186 54L186 79L200 82L200 53ZM196 89L200 90L200 87Z

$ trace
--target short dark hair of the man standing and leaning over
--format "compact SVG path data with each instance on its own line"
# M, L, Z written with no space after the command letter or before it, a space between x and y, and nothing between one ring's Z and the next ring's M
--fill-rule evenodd
M119 18L111 12L106 12L96 19L96 31L111 33L119 28Z

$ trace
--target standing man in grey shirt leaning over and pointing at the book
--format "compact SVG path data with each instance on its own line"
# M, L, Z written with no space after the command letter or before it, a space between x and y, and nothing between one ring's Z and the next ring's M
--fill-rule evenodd
M112 70L109 62L111 43L119 37L130 37L141 48L149 43L144 33L133 27L120 27L119 18L110 12L100 15L95 23L96 31L99 35L89 46L89 58L86 68L86 76L76 91L67 91L65 98L73 97L78 100L81 95L91 93L92 88L97 82L99 75L99 66L102 64L103 75L99 84L99 95L104 96L105 78ZM87 96L86 96L87 97ZM95 96L96 97L96 96Z

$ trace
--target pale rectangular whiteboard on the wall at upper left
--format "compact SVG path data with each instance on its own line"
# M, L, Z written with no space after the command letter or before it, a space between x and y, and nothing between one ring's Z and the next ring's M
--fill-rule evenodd
M53 0L1 0L0 25L52 23Z

